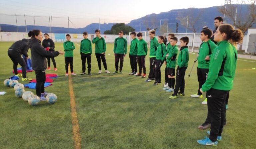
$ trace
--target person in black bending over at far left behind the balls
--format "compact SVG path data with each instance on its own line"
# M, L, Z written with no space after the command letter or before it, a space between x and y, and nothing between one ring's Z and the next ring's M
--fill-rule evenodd
M22 76L22 81L29 81L32 80L30 78L27 77L27 69L26 69L26 62L25 60L21 57L21 55L23 54L26 59L28 59L28 49L29 49L29 39L22 39L19 41L16 41L12 44L11 47L9 47L8 49L8 56L11 58L12 62L13 62L13 71L15 76L21 77ZM22 74L18 74L17 71L17 66L18 63L21 65L21 70L22 70Z

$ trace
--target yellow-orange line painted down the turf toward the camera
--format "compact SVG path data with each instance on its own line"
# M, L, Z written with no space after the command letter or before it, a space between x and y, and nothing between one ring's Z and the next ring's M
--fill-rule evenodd
M70 74L70 67L68 71ZM68 82L69 82L69 95L70 95L71 120L72 120L72 127L73 127L74 149L81 149L81 136L79 133L79 123L78 123L78 118L76 113L76 103L75 103L75 96L74 96L71 75L68 76Z

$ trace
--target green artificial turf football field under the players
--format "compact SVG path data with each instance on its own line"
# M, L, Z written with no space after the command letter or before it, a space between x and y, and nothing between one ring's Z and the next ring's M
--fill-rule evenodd
M0 42L2 82L13 75L12 61L7 55L11 44ZM55 49L63 49L62 45L55 43ZM75 46L74 72L80 74L79 46ZM196 54L189 54L185 81L195 57ZM46 73L56 73L59 77L54 79L52 86L45 88L46 92L58 96L53 105L41 101L38 106L32 107L15 97L13 88L5 87L3 83L0 85L0 91L7 92L0 96L0 149L73 149L77 145L73 138L69 77L65 76L64 55L55 59L58 70ZM256 148L256 70L252 70L256 67L256 60L238 59L234 88L230 92L227 125L224 126L223 139L215 149ZM185 88L185 96L171 100L171 93L162 90L165 65L161 68L162 83L153 86L153 82L144 83L146 78L128 75L131 72L129 55L124 59L124 74L112 74L115 70L113 44L107 44L106 60L111 74L104 73L103 64L103 73L98 74L93 50L93 75L71 77L71 94L74 94L82 149L213 148L196 142L207 136L206 130L197 129L207 114L207 106L200 104L204 99L190 97L198 90L197 64ZM146 70L148 75L149 56L146 57ZM27 76L35 79L35 72L27 73ZM25 90L35 94L35 90Z

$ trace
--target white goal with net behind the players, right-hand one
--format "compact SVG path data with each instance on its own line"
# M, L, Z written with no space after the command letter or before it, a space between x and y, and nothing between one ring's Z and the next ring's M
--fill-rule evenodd
M165 33L164 36L167 37L168 34L170 34L170 33ZM198 46L198 44L200 46L200 44L202 43L202 41L200 40L200 33L176 33L174 35L175 35L175 37L178 38L177 45L179 45L179 43L180 43L179 39L181 37L187 36L189 38L188 46L192 47L192 52L194 52L195 46Z

